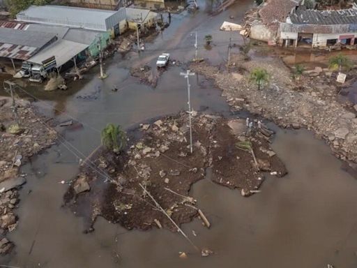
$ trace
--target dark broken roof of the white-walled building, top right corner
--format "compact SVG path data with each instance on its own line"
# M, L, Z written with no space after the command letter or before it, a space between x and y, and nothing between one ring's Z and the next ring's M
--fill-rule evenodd
M294 24L357 24L357 6L342 10L312 10L296 8L289 18Z

